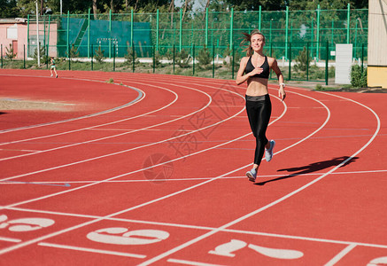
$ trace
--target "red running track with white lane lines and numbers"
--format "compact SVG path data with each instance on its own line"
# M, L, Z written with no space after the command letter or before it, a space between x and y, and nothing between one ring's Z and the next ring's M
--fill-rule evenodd
M1 70L2 265L387 263L387 96L275 85L252 184L244 86ZM106 83L109 79L114 84Z

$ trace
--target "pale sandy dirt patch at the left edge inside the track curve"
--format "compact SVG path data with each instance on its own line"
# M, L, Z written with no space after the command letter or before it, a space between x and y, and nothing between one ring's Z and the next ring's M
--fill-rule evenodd
M19 98L0 98L0 110L72 111L74 104Z

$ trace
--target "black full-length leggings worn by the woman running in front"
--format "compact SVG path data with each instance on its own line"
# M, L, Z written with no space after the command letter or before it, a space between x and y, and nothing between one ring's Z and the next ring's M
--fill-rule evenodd
M256 142L254 163L259 165L265 152L265 145L268 142L266 129L272 113L272 104L269 95L246 95L246 111Z

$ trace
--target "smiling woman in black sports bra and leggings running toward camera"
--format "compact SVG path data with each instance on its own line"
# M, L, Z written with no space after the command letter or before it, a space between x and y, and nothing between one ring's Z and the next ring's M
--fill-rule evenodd
M241 59L238 73L236 75L236 84L240 85L247 82L246 90L246 112L249 118L252 134L256 140L254 162L252 169L246 173L250 181L255 182L260 161L265 153L267 161L273 158L274 140L267 140L266 130L270 120L272 105L267 90L268 76L270 69L273 69L277 75L280 88L279 97L284 100L286 97L285 84L283 83L283 74L274 58L268 58L263 54L265 45L265 36L258 30L252 30L249 35L244 33L244 42L249 46L244 50L247 56Z

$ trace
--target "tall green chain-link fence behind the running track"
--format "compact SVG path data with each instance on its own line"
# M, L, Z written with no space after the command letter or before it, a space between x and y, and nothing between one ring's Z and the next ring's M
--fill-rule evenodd
M39 22L43 64L54 56L59 69L235 78L244 56L242 33L254 28L266 36L266 53L277 59L287 80L327 81L335 73L329 60L334 62L330 51L336 43L352 43L353 60L367 61L368 10L349 5L278 12L67 13ZM28 58L36 57L35 24L35 16L29 16ZM2 56L2 67L7 65L12 67Z

